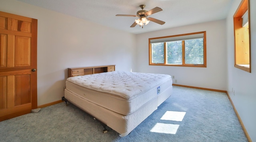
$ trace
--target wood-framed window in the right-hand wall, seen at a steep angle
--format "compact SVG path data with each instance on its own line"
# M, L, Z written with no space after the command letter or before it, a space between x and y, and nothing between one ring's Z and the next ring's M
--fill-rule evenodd
M250 10L249 0L242 0L234 19L234 66L251 72L250 64Z

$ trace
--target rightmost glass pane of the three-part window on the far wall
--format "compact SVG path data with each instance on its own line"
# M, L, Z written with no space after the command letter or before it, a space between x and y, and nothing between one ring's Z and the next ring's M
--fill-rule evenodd
M204 64L204 38L185 40L185 64Z

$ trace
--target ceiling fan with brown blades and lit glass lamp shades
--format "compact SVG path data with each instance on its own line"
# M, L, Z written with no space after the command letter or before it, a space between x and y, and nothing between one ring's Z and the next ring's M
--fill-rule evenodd
M147 11L147 10L143 10L143 9L145 8L145 5L144 5L144 4L140 5L140 8L141 8L142 10L139 10L139 11L137 12L137 15L116 14L116 16L139 17L139 19L138 19L138 20L135 20L135 22L132 24L132 26L130 26L131 28L132 28L132 27L135 27L137 24L140 25L140 26L142 26L142 28L143 28L144 24L147 25L149 21L155 22L155 23L160 24L160 25L163 25L163 24L165 23L164 21L161 21L161 20L158 20L158 19L155 19L155 18L151 18L151 17L147 18L147 17L148 17L149 15L151 15L151 14L154 14L154 13L156 13L156 12L162 11L161 8L155 7L155 8L153 8L152 10Z

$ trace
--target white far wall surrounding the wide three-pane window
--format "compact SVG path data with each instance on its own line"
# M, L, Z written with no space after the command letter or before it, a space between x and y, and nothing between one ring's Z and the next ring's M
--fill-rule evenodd
M152 23L154 24L154 23ZM149 65L148 38L206 31L207 67L173 67ZM174 75L174 84L226 90L226 22L219 20L156 32L138 34L138 72Z

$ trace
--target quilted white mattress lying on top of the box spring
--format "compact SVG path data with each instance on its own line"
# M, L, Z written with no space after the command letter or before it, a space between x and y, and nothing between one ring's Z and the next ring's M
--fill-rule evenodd
M171 86L170 75L123 71L69 77L66 81L67 91L122 115L135 112L154 98L159 106L170 95L158 95Z

